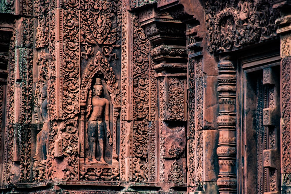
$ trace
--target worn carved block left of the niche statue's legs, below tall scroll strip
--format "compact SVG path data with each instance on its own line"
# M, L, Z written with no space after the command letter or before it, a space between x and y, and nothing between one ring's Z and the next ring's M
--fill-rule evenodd
M78 138L76 120L68 119L51 123L47 150L48 161L45 172L47 180L54 180L55 178L63 180L78 179ZM62 146L58 147L59 145ZM58 154L59 149L61 150L60 154ZM54 156L64 157L64 159L59 160Z

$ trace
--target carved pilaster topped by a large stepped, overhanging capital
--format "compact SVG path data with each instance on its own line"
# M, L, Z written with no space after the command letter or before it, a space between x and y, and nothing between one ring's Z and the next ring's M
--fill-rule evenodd
M186 141L182 140L187 120L186 26L156 5L141 10L139 22L150 40L149 178L186 186ZM159 173L154 173L155 167Z

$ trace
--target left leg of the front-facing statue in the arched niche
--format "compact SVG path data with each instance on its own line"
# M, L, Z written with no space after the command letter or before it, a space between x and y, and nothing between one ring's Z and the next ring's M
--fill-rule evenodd
M97 121L88 121L88 149L89 149L89 160L97 162L96 159L96 128Z

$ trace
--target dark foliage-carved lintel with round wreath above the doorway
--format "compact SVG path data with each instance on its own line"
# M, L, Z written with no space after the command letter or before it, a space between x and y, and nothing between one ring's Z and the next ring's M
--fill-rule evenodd
M219 52L276 36L278 10L265 1L206 1L208 50Z

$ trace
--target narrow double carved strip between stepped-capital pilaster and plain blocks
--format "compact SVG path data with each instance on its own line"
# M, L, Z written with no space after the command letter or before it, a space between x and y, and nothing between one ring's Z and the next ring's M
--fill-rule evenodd
M188 62L188 180L190 191L201 191L203 183L203 71L202 57Z

